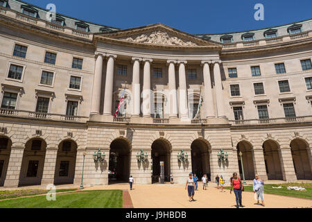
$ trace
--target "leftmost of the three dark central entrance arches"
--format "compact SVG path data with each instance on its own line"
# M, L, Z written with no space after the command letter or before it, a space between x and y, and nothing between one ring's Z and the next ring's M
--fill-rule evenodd
M126 139L118 138L110 144L108 182L128 182L131 147Z

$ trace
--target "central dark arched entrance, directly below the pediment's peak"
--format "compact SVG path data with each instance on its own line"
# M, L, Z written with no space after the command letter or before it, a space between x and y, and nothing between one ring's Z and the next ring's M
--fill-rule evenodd
M152 144L152 183L159 182L160 162L164 162L164 181L170 181L171 144L166 139L156 139Z

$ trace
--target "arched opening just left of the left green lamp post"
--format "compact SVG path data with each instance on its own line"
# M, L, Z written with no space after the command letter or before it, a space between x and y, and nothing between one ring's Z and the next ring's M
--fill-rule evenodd
M56 157L54 184L72 184L75 177L77 144L66 139L58 145Z

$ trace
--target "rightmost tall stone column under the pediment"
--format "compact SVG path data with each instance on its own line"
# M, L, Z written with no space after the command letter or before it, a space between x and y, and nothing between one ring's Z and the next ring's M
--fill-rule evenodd
M214 83L216 87L216 104L217 104L217 113L218 117L225 117L224 112L224 98L223 98L223 89L222 89L222 80L220 73L220 60L214 61Z

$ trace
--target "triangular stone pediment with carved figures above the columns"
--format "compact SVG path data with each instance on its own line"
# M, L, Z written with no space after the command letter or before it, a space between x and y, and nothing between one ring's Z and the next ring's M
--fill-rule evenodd
M196 35L178 31L164 24L153 24L138 28L128 28L107 33L98 33L96 37L120 41L128 44L173 47L221 47L220 44L202 39Z

